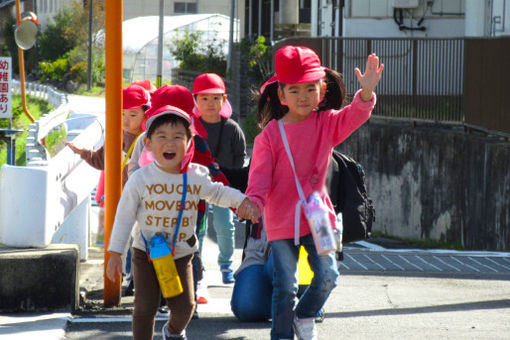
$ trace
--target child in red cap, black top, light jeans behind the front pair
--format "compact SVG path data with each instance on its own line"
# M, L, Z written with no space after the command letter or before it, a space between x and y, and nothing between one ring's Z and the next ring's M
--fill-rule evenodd
M225 83L215 73L199 75L193 82L195 109L207 131L207 143L218 168L242 168L246 157L246 139L239 125L229 117L232 108L227 100ZM229 209L213 206L216 230L218 265L223 283L234 283L232 255L234 253L234 221ZM204 232L205 234L205 232ZM200 240L202 242L202 239Z

